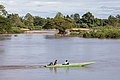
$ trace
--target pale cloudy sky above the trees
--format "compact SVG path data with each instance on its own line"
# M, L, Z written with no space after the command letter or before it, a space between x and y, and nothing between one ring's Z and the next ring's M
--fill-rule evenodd
M97 18L120 14L120 0L0 0L9 13L24 16L54 17L57 12L64 15L92 12Z

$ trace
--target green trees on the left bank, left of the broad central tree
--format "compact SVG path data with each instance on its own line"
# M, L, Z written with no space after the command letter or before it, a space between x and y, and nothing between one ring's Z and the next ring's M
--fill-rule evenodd
M9 14L3 5L0 5L0 34L22 33L21 28L40 30L46 23L45 18L32 16L27 13L25 16Z

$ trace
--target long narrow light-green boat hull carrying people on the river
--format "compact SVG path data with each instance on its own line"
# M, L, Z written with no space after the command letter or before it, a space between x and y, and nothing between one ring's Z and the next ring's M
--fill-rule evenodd
M83 63L71 63L69 65L56 64L51 66L46 66L47 68L65 68L65 67L84 67L86 65L94 64L95 62L83 62Z

